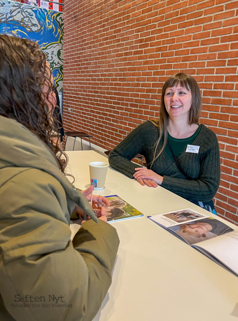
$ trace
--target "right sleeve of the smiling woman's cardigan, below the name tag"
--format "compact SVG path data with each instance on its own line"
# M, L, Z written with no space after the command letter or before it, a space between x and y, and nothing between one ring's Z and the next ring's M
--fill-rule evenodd
M207 144L209 148L201 158L200 173L197 179L163 176L161 186L189 201L210 201L215 196L220 183L219 145L216 134L212 131L210 131Z

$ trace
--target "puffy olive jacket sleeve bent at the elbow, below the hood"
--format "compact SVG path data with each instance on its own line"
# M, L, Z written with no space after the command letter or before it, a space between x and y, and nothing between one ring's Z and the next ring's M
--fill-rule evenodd
M65 191L38 169L11 178L1 198L0 283L8 312L17 321L92 320L111 283L116 230L90 220L72 242Z

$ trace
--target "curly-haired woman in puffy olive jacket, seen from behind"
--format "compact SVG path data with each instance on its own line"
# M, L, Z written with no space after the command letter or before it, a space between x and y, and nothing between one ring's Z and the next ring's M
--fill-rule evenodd
M90 321L111 283L117 232L65 177L39 46L0 35L0 82L0 320ZM74 210L92 219L71 241Z

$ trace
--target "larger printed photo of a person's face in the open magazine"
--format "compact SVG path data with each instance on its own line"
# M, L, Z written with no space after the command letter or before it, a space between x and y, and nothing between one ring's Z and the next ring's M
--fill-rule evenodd
M190 245L234 231L223 222L211 217L171 226L168 229L176 232Z

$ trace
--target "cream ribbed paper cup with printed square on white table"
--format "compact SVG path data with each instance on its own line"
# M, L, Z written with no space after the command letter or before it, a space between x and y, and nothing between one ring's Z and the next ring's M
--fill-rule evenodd
M89 163L90 184L94 189L103 189L107 176L108 164L102 161L92 161Z

